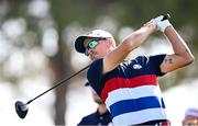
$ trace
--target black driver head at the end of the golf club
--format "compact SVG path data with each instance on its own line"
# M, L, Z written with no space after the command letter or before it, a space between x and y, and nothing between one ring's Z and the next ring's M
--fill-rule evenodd
M29 111L29 107L25 103L21 101L15 102L15 112L20 118L24 118L26 116L28 111Z

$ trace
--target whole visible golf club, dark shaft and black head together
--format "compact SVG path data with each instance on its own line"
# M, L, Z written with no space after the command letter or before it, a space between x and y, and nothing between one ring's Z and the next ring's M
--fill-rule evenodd
M86 70L90 65L86 66L85 68L82 68L81 70L77 71L76 73L74 73L73 76L63 79L62 81L59 81L57 84L55 84L54 87L52 87L51 89L46 90L45 92L41 93L40 95L35 96L34 99L28 101L26 103L23 103L22 101L16 101L15 102L15 112L19 115L20 118L24 118L28 114L29 107L28 104L30 104L31 102L33 102L34 100L38 99L40 96L42 96L43 94L47 93L48 91L62 85L64 82L68 81L69 79L72 79L73 77L75 77L76 75L80 73L81 71Z

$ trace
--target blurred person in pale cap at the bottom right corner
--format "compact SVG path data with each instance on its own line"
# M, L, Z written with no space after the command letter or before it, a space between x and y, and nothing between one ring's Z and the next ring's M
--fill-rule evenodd
M198 108L189 107L186 110L183 126L198 126Z

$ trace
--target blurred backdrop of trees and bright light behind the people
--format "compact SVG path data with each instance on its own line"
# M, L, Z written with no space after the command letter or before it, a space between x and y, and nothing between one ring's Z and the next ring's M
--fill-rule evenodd
M58 80L90 64L75 51L84 32L102 28L118 44L152 18L169 13L194 56L198 55L197 0L0 0L0 125L76 125L95 112L86 71L29 105L24 119L14 102L26 102ZM173 50L162 33L152 35L129 57ZM160 78L173 125L189 106L198 107L198 61Z

